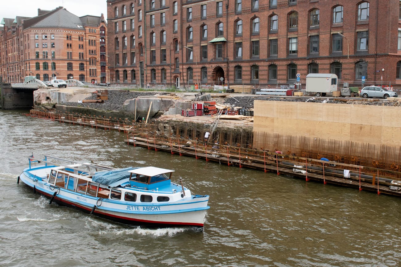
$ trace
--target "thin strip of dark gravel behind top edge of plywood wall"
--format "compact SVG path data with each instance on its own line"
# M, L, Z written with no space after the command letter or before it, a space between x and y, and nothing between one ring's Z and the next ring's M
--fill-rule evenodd
M233 107L243 107L245 109L253 108L253 101L290 101L290 102L312 102L312 103L334 103L334 104L352 104L352 105L375 105L375 106L399 106L398 101L377 101L376 99L367 99L366 101L360 100L346 100L340 101L336 99L324 98L281 98L281 97L230 97L225 99L224 103Z

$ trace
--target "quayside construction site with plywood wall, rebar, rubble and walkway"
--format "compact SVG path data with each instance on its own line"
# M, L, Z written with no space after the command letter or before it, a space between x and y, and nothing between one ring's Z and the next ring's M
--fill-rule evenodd
M30 115L121 131L127 145L401 196L398 99L159 92L105 110L110 98Z

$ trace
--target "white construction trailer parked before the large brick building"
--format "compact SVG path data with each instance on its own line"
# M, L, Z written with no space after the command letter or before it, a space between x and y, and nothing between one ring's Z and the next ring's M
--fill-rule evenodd
M309 73L306 75L306 93L317 97L337 91L338 77L333 73Z

